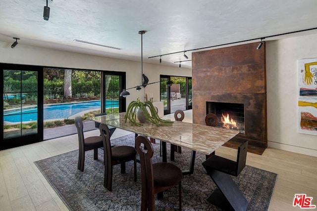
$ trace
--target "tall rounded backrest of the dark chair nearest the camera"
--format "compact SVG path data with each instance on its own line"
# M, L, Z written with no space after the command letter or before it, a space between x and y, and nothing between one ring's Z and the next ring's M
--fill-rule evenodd
M154 187L153 146L147 137L139 135L135 139L135 148L140 155L142 190L148 192Z

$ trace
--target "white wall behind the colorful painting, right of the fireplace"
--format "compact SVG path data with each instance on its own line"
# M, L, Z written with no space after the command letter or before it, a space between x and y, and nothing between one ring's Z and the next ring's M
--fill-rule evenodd
M298 60L317 58L317 35L266 42L268 146L317 157L317 136L299 133Z

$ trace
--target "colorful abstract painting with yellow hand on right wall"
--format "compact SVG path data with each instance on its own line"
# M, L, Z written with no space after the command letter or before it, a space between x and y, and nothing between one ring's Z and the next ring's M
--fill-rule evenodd
M298 60L299 132L317 135L317 58Z

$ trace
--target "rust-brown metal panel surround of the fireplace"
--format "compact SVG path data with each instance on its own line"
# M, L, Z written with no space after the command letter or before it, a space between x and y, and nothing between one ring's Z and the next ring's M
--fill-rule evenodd
M243 103L245 134L237 141L267 147L265 44L194 52L193 122L205 125L206 102Z

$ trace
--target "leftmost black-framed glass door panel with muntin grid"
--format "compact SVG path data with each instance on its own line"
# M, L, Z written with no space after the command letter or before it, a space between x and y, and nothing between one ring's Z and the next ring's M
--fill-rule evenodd
M43 140L43 71L39 67L1 65L2 140L0 149Z

